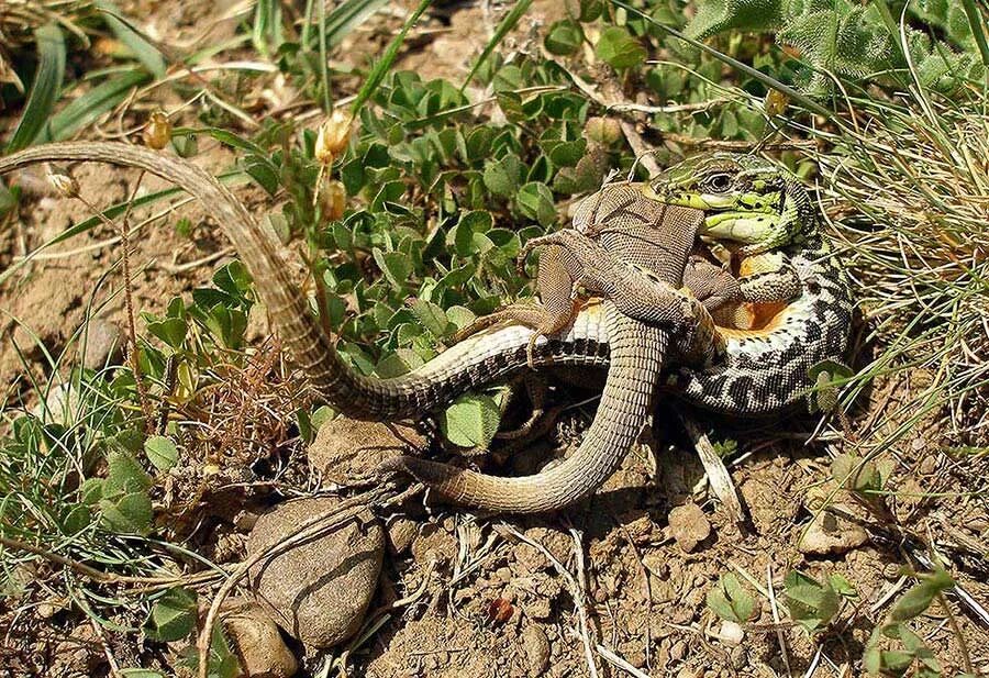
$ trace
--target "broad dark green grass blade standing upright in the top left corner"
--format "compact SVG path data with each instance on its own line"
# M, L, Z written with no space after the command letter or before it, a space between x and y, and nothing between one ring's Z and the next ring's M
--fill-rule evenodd
M37 73L34 74L34 84L18 127L7 144L7 153L26 148L37 138L52 118L65 78L65 36L62 29L54 23L45 24L34 32L34 37L37 41Z

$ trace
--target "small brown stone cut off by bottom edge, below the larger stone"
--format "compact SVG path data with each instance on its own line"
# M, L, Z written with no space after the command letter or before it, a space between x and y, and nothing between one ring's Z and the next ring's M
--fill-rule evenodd
M271 618L249 601L231 599L226 607L231 610L222 616L223 627L235 647L243 674L265 678L295 676L299 664Z

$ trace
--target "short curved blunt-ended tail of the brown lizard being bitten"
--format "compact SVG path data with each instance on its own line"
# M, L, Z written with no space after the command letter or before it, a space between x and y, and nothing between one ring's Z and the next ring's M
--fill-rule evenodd
M618 469L653 410L669 333L634 321L608 302L611 369L593 423L573 456L533 476L502 478L398 457L382 470L407 471L457 504L510 513L555 511L589 497Z

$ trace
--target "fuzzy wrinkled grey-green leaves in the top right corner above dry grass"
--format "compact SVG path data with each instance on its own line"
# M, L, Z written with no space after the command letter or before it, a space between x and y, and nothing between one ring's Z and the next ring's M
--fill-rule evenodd
M813 93L831 91L835 75L882 81L885 74L904 70L908 56L924 86L955 87L958 78L982 73L962 3L921 0L910 3L910 13L944 40L908 26L904 55L885 0L700 0L686 32L697 38L729 30L775 32L800 55L798 82Z

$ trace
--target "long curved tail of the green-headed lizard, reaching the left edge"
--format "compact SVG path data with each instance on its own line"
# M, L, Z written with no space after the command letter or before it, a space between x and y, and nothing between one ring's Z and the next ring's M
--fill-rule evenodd
M376 379L359 375L341 359L331 337L313 318L274 234L262 229L233 193L208 171L141 146L73 142L35 146L2 157L0 175L34 163L68 160L143 169L205 204L254 276L258 296L289 355L320 396L344 414L377 421L419 418L466 390L525 367L524 347L532 333L522 327L507 327L469 337L401 377ZM542 360L537 362L549 362L552 352L543 353Z

